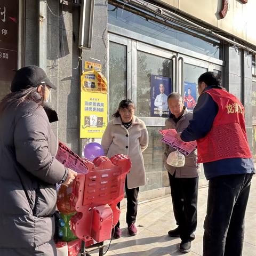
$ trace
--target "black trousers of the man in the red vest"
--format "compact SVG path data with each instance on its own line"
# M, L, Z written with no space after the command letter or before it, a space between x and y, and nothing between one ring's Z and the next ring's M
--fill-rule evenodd
M210 179L204 221L203 256L241 256L244 216L252 174Z

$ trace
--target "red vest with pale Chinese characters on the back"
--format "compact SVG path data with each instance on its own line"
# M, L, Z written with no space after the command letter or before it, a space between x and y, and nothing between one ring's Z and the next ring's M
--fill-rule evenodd
M196 141L198 163L225 158L251 158L242 103L233 94L223 89L210 89L204 93L211 95L219 111L210 132Z

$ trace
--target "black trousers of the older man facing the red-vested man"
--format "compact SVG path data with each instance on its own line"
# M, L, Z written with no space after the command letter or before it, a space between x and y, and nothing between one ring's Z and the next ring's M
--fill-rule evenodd
M193 241L197 225L198 177L175 178L168 172L174 217L182 241ZM216 256L216 255L215 255Z

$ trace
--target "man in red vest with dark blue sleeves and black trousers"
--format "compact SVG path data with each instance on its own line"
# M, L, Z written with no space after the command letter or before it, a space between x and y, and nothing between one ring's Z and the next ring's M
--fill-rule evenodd
M189 126L177 138L197 141L198 163L209 180L203 256L241 256L244 216L253 173L244 107L206 72L198 78L198 98Z

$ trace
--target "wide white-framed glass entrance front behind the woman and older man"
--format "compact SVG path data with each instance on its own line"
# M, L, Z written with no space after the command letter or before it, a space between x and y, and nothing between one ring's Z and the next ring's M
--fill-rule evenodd
M198 77L206 71L222 72L221 60L214 59L213 63L207 58L198 59L109 33L109 120L119 101L131 98L137 107L135 115L145 122L149 133L149 146L143 152L147 185L141 191L169 186L163 166L165 146L158 132L169 116L167 95L179 92L186 107L193 111L199 96Z

